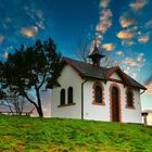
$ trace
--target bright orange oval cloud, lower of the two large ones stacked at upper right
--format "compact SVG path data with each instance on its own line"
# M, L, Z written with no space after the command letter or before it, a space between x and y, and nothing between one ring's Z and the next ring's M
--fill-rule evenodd
M119 39L131 39L134 36L134 31L130 29L121 30L119 33L117 33L117 37Z

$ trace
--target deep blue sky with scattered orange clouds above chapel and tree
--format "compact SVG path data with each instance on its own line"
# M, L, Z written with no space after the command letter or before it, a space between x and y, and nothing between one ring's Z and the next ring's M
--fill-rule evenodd
M51 37L75 56L79 39L98 40L122 69L148 88L142 110L152 110L151 0L0 0L0 60L21 45Z

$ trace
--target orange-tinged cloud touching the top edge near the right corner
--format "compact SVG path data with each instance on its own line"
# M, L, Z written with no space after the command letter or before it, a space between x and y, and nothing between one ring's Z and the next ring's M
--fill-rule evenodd
M140 10L148 3L148 0L136 0L129 4L132 10Z

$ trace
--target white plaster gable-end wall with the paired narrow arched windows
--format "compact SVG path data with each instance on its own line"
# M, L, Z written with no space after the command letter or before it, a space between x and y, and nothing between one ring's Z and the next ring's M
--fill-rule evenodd
M66 118L80 118L81 117L81 83L83 79L79 77L78 73L66 65L61 76L59 77L59 83L61 87L54 87L52 89L51 98L51 116L52 117L66 117ZM62 88L65 89L65 101L67 103L67 89L73 87L73 98L75 105L62 106L60 105L60 91Z

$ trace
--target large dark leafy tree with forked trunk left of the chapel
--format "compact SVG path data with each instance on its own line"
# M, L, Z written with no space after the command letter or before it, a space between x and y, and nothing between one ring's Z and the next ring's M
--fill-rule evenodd
M22 46L14 54L9 54L4 63L0 63L2 89L25 97L34 104L40 117L43 116L40 89L49 80L59 85L56 78L62 69L61 54L55 50L52 39L41 42L37 40L31 47ZM29 92L35 92L36 100Z

